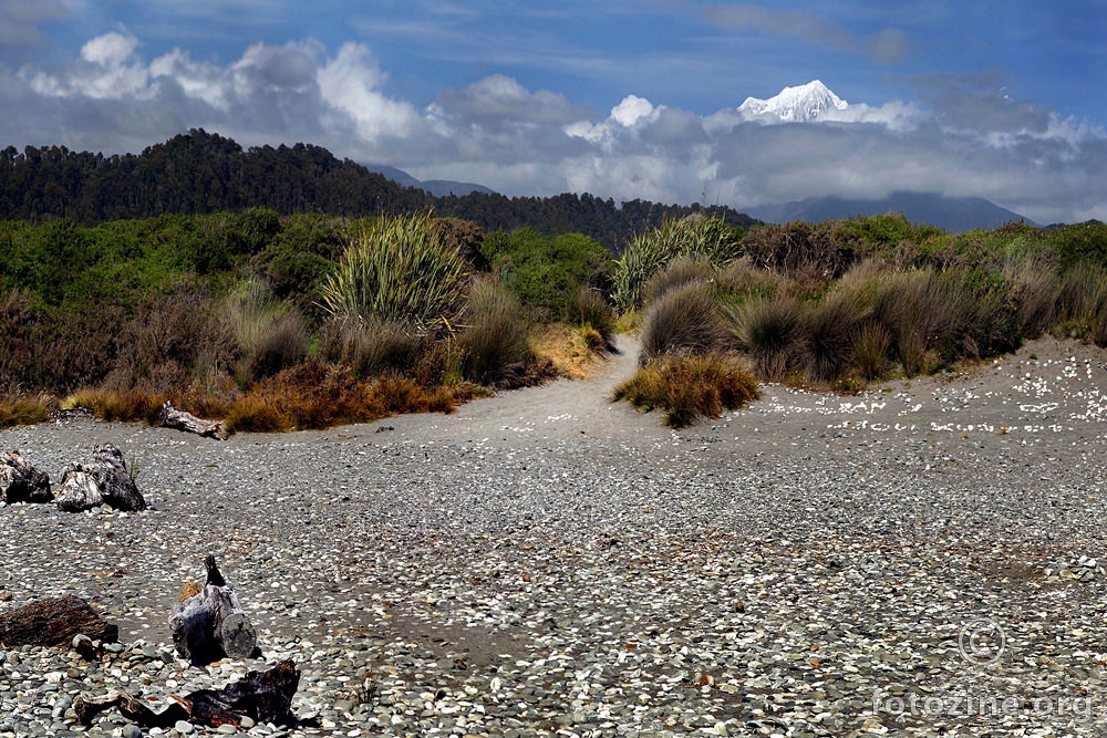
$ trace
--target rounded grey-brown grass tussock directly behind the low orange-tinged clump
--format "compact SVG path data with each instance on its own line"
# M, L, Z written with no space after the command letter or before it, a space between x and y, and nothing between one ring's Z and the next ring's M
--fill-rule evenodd
M707 354L730 342L718 300L704 284L665 292L650 305L641 332L645 363L664 354Z

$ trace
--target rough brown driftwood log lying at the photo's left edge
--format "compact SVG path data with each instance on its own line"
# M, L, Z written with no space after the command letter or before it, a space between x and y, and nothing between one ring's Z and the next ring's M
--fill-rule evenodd
M80 597L40 600L0 613L0 644L13 646L69 646L83 634L104 643L120 640L117 625L97 615Z

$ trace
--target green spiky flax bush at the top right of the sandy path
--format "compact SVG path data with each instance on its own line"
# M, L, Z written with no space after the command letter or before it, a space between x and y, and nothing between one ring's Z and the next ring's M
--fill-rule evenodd
M687 217L634 238L615 262L613 299L621 312L645 302L645 283L670 262L689 256L724 264L738 256L738 242L722 218Z

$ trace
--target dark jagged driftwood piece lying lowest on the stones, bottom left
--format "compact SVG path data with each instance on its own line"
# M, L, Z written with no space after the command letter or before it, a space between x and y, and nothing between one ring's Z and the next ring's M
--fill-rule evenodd
M131 695L117 692L105 697L81 697L73 703L77 720L91 725L100 713L118 707L123 717L147 728L169 728L178 720L194 725L241 727L244 717L256 724L291 725L292 697L300 685L300 672L291 661L283 661L268 672L250 672L223 689L199 689L161 713L146 707Z

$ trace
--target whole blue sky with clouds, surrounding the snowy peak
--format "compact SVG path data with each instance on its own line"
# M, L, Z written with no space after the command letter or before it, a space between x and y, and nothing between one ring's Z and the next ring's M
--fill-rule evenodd
M189 128L505 195L1107 220L1107 0L0 0L0 147ZM751 119L821 80L831 119Z

